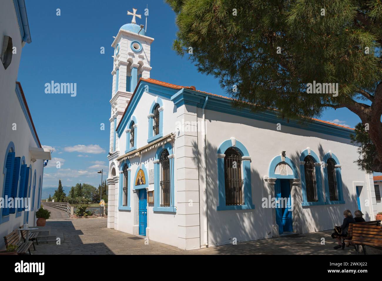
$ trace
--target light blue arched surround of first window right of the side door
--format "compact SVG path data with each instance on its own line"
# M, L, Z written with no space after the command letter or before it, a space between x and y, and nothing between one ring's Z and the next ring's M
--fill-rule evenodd
M322 177L321 177L321 163L317 154L311 149L305 149L300 155L300 161L304 161L305 157L310 155L314 159L314 173L316 175L316 189L317 189L317 202L308 202L306 196L306 181L305 181L305 166L300 163L300 174L301 174L301 190L303 193L303 206L315 206L315 205L325 205L324 194L322 190ZM317 165L319 164L319 165Z

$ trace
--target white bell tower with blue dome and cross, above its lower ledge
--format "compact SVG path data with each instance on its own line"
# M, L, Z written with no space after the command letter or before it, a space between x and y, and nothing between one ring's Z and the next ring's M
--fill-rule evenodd
M113 55L113 85L111 117L110 117L110 153L119 152L118 136L115 129L128 105L139 78L150 78L150 47L154 38L146 36L143 24L138 25L137 9L128 11L132 15L131 23L124 24L118 31L112 47ZM122 152L124 153L124 152Z

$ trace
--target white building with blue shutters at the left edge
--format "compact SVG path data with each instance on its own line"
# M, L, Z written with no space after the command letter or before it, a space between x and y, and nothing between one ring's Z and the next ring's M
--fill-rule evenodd
M1 2L0 34L0 250L3 250L4 236L24 223L36 225L44 160L51 157L50 150L42 148L37 136L26 99L28 94L16 81L23 47L31 43L24 0ZM11 202L11 198L13 202L18 198L30 199L29 207L4 204Z

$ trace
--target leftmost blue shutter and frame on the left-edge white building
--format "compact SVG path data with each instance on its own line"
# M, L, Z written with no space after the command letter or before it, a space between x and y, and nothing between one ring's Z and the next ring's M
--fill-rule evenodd
M4 159L4 168L3 168L3 174L4 174L4 182L3 182L3 194L2 197L5 199L5 197L11 196L11 189L12 189L12 179L13 179L13 171L14 171L14 164L15 164L15 145L13 142L10 142L8 144L8 147L6 149L5 153L5 159ZM4 223L6 221L9 221L9 208L8 208L8 202L4 202L6 205L4 208L0 208L0 224Z

